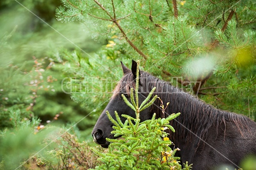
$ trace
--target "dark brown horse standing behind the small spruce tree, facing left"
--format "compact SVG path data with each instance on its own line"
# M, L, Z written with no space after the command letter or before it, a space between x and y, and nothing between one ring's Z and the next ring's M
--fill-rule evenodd
M137 63L132 61L131 70L124 66L122 61L121 65L124 75L113 90L111 100L92 131L93 140L104 148L110 144L106 138L114 138L111 134L113 124L109 121L106 111L108 110L113 118L114 111L119 115L135 117L134 110L125 104L121 95L129 98L130 89L135 87ZM140 70L139 82L139 103L145 100L154 87L154 95L160 97L164 104L170 102L163 115L159 107L160 100L156 100L151 107L140 112L141 121L151 119L154 113L157 118L181 113L170 122L175 133L170 131L169 139L180 149L175 156L180 157L182 166L188 161L193 164L193 170L215 170L222 165L234 169L240 168L239 164L247 156L256 156L256 122L250 118L216 109L148 72ZM120 118L125 121L121 116Z

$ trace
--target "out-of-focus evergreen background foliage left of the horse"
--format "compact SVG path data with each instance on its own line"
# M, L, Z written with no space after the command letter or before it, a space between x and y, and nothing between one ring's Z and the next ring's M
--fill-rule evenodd
M55 15L43 11L54 11L60 3L56 0L44 2L46 9L38 11L38 8L42 8L41 0L19 2L42 19L49 20L55 20ZM21 120L31 120L37 116L44 125L46 121L57 125L81 120L87 114L87 109L63 93L62 70L55 67L51 58L58 55L57 49L74 49L73 44L38 22L38 18L15 1L1 1L0 9L0 130L14 127L10 115L15 114L16 110L20 111ZM100 46L88 35L81 36L79 30L82 26L77 23L67 26L55 21L52 26L87 52L93 52ZM84 40L88 40L87 43ZM92 43L95 45L90 46ZM55 115L59 116L55 118ZM91 122L89 119L78 124L81 130L87 130L86 136L90 134L87 127L93 125Z

